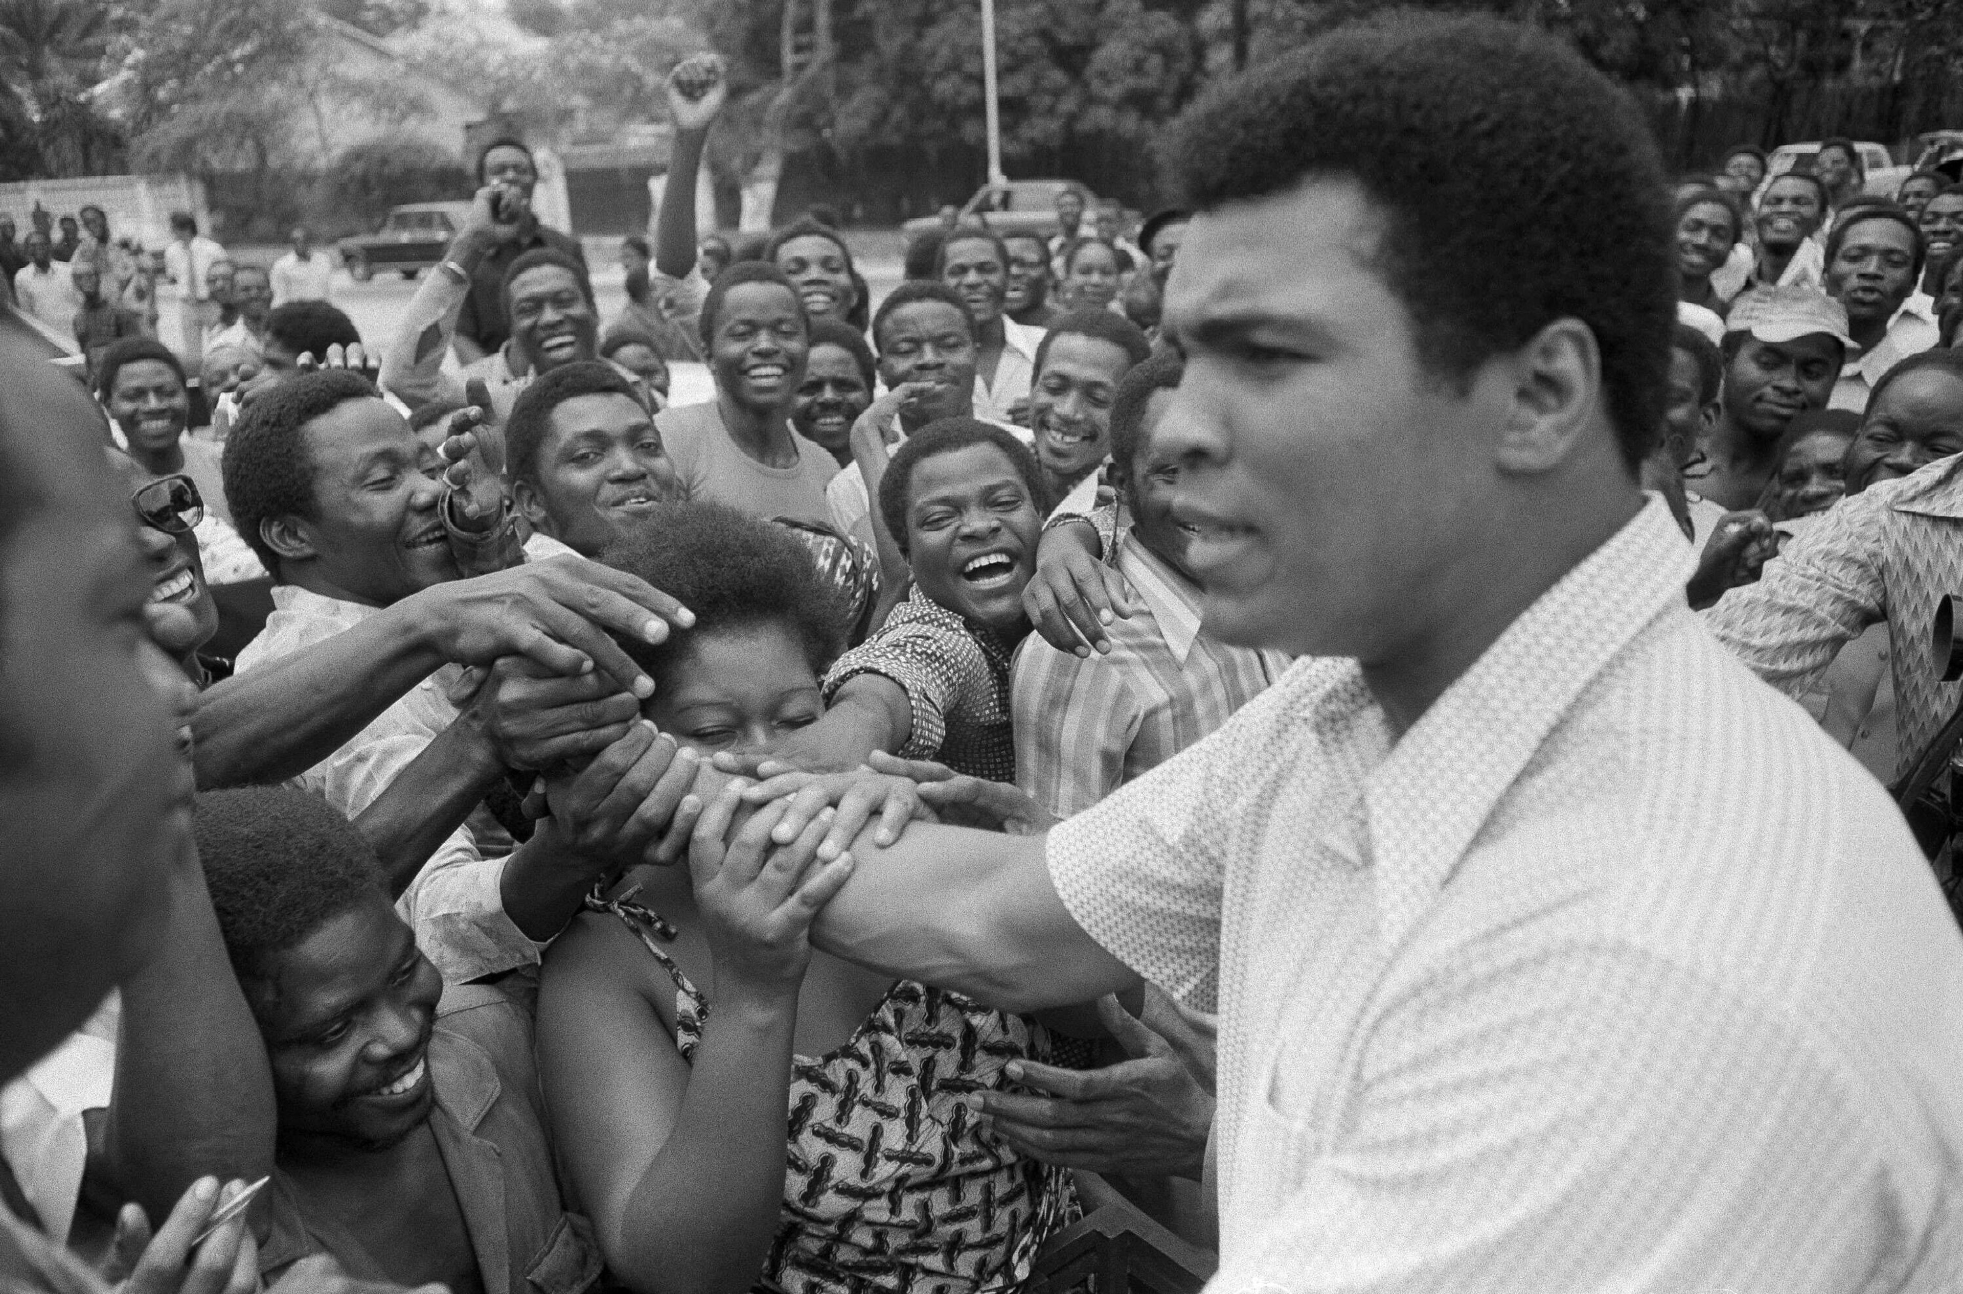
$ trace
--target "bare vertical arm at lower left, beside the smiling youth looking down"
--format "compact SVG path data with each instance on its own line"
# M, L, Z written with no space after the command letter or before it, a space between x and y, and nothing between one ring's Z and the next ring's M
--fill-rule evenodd
M173 876L169 933L122 986L106 1174L151 1217L200 1176L257 1180L273 1168L273 1076L226 958L194 860Z

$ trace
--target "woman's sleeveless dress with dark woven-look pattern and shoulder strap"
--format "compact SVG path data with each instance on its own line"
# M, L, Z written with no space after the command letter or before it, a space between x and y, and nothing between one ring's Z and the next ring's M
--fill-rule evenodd
M675 1045L693 1060L709 999L663 948L640 903L589 897L634 931L675 980ZM983 1137L966 1096L1007 1086L1003 1066L1050 1058L1048 1031L958 994L901 980L824 1056L791 1068L783 1212L754 1286L769 1294L980 1294L1029 1276L1078 1217L1066 1168Z

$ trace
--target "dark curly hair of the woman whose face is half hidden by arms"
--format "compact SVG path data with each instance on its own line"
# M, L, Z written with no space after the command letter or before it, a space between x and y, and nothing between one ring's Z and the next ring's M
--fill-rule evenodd
M760 516L720 503L663 503L646 526L609 544L601 562L646 579L695 613L693 628L662 644L620 640L656 687L665 685L667 670L701 632L785 624L819 675L844 650L846 613L813 566L811 550Z

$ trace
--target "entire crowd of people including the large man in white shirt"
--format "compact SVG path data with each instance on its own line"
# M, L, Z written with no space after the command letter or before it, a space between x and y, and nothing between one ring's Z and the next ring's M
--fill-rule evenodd
M1963 1280L1963 187L1404 16L875 298L667 98L605 326L518 139L387 338L37 212L0 1286Z

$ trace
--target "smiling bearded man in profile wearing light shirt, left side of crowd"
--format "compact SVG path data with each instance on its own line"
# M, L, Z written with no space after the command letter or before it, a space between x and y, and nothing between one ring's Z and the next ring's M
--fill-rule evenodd
M238 656L249 674L342 634L381 609L459 577L442 518L436 452L359 375L326 369L261 393L226 444L226 499L239 532L273 573L273 615ZM538 962L601 868L556 831L510 848L495 819L471 811L503 778L457 725L459 666L444 666L294 782L359 817L436 742L455 742L432 791L459 789L455 827L397 907L450 984ZM446 754L450 750L446 748Z

